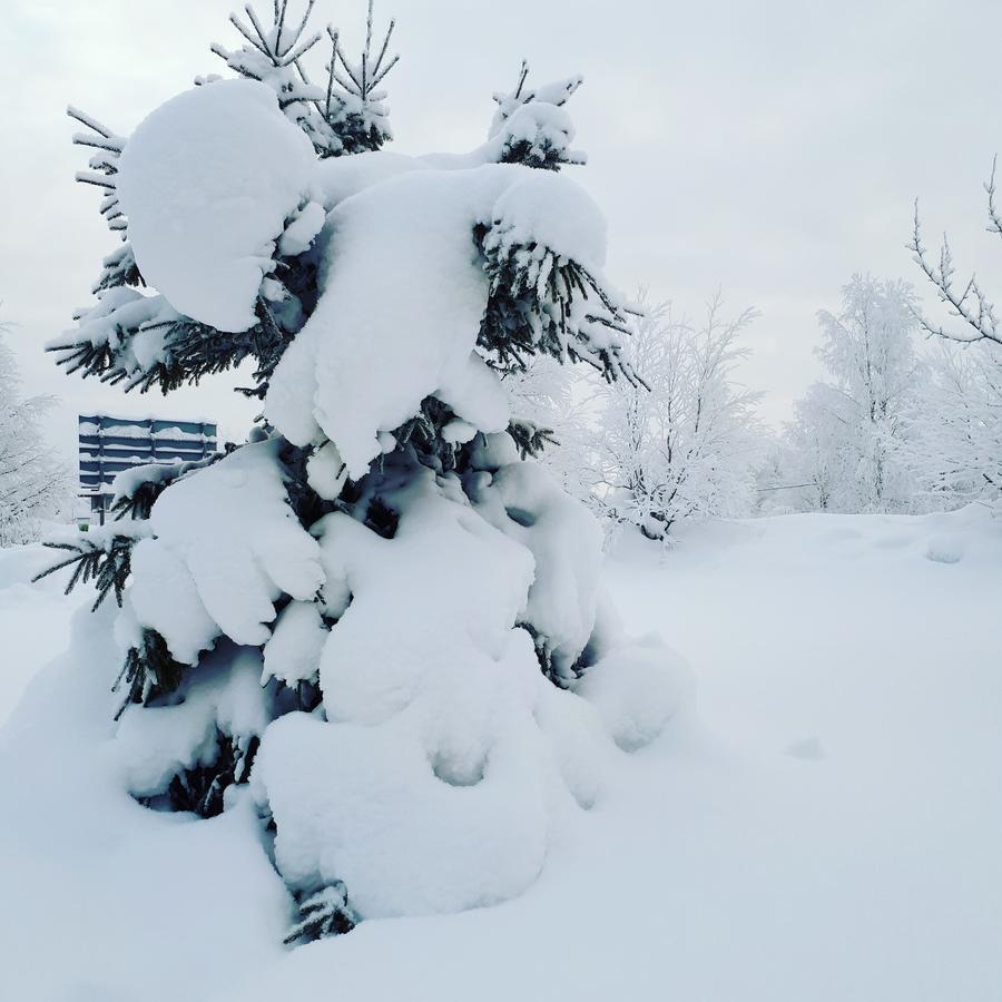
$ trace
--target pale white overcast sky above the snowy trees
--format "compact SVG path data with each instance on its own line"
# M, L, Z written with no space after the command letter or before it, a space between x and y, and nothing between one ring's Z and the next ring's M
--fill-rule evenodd
M12 6L11 6L12 4ZM318 0L358 41L364 0ZM0 61L0 299L27 387L78 409L204 414L236 434L247 411L218 384L122 401L55 370L45 340L86 303L114 246L95 189L72 183L67 102L129 131L217 67L228 0L7 0ZM462 150L483 137L490 94L525 57L533 79L582 72L576 176L606 210L610 274L689 313L718 285L758 306L745 382L782 421L817 376L815 313L854 271L916 278L912 199L988 277L1002 246L983 229L996 149L998 0L380 0L402 55L389 79L396 148ZM11 35L12 32L12 35ZM990 283L989 283L990 284ZM1002 294L1002 276L1000 276ZM224 381L225 382L225 381Z

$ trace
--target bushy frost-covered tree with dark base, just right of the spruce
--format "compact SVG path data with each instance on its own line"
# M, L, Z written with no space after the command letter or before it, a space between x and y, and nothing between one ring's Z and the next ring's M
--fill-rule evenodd
M595 503L613 523L665 539L691 515L750 511L762 444L759 394L736 382L748 354L741 332L756 316L726 317L720 295L701 324L669 304L645 312L631 360L649 391L611 383L600 391Z

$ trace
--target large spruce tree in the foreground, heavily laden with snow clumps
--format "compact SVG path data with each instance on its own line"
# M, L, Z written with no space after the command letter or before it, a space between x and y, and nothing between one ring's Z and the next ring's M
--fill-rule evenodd
M685 689L599 608L600 529L522 459L544 436L500 381L539 354L636 381L601 215L558 169L579 80L523 68L479 149L389 154L371 9L358 62L327 32L322 86L307 18L247 8L215 49L240 79L128 140L71 111L126 242L52 345L140 390L256 365L250 441L122 479L79 558L120 593L129 792L253 804L289 942L520 893Z

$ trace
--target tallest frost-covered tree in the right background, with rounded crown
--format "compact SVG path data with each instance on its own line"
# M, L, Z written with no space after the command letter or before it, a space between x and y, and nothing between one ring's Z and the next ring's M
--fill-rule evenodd
M806 507L895 511L912 503L914 483L900 458L905 414L923 366L912 332L914 293L902 282L854 275L842 311L818 314L818 356L828 381L795 405L787 430L790 482L812 484Z

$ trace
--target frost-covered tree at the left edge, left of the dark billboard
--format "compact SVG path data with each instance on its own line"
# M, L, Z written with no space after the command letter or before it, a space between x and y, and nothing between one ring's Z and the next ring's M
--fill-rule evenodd
M13 351L0 325L0 547L38 538L69 495L67 472L46 442L42 419L53 401L22 396Z

